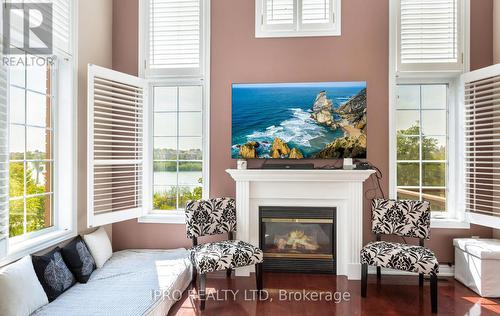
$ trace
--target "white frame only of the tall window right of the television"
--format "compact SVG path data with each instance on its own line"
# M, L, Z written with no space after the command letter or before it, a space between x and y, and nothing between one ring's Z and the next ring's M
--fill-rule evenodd
M460 77L462 71L468 71L470 67L470 0L459 0L464 3L463 15L464 28L464 63L463 70L446 71L434 69L433 71L401 71L398 69L398 46L399 46L399 1L389 2L389 198L396 198L396 88L398 84L448 84L448 211L446 217L431 216L431 227L449 229L468 229L470 223L467 221L463 207L463 152L462 125L463 114L459 110L460 97L463 93L460 89Z

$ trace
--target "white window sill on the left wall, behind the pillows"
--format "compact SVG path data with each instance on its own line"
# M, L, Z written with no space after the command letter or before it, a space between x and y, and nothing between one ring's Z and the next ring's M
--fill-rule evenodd
M55 246L63 241L76 237L76 235L76 232L73 230L55 230L34 238L10 244L7 257L0 261L0 267L19 260L24 256Z

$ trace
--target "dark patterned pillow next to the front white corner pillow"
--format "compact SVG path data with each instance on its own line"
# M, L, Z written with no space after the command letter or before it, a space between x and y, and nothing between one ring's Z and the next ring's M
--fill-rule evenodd
M45 255L32 256L32 260L38 280L42 284L49 302L55 300L76 283L75 277L63 260L59 247Z

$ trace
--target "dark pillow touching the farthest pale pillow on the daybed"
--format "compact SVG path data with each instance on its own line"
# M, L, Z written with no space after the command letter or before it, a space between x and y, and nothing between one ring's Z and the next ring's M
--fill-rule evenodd
M83 239L80 236L73 239L61 248L61 254L76 280L80 283L87 283L96 265Z

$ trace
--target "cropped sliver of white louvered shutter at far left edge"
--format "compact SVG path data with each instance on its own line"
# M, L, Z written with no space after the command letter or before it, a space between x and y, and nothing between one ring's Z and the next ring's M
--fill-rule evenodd
M2 10L0 9L0 14ZM0 48L3 35L0 31ZM0 49L3 60L3 49ZM0 258L7 255L9 238L9 121L7 112L8 84L7 69L0 63Z

